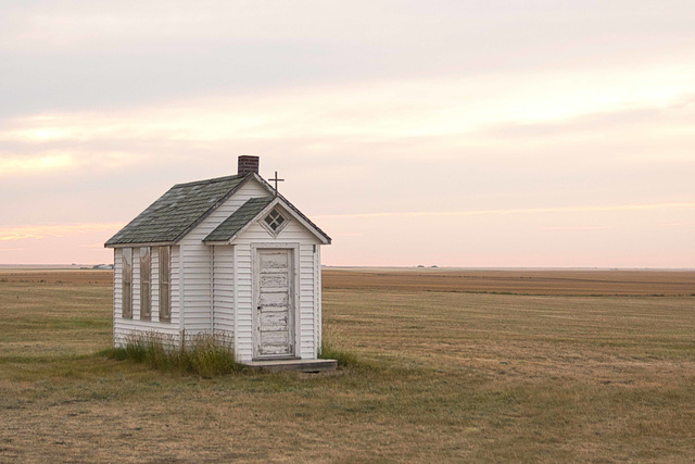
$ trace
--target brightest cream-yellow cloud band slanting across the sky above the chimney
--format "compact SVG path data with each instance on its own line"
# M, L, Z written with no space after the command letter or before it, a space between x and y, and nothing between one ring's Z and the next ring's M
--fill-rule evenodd
M159 108L108 113L65 112L9 122L0 140L37 143L157 138L256 140L298 137L446 136L482 130L551 130L559 121L648 114L692 102L695 67L615 68L518 76L466 76L355 81L292 91L178 99ZM514 83L514 85L513 85ZM542 83L540 85L539 83ZM658 83L658 85L655 85ZM369 108L365 112L365 108ZM589 115L589 116L587 116ZM589 117L589 120L585 120ZM601 121L599 121L601 122ZM500 128L497 128L500 127ZM531 127L531 129L529 129ZM486 136L489 136L488 134Z

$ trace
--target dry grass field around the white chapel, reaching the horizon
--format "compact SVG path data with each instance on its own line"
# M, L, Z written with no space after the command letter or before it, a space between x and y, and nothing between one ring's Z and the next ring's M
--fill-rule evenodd
M0 271L0 462L692 462L695 272L324 271L329 375L108 360L110 272Z

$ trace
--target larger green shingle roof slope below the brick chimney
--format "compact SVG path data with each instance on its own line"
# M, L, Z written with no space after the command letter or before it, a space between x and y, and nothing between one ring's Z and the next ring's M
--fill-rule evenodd
M175 242L229 198L244 178L237 175L177 184L111 237L105 246Z

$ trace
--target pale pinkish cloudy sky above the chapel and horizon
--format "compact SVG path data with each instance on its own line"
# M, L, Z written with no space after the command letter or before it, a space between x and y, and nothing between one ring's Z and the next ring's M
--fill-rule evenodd
M695 267L695 2L0 1L0 264L239 154L328 265Z

